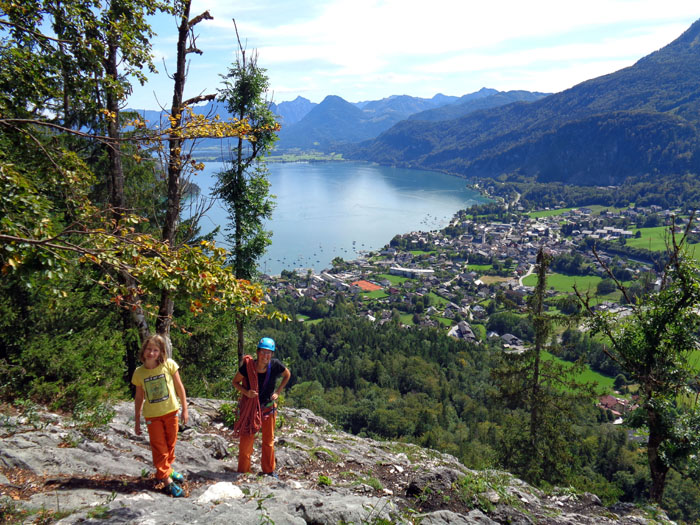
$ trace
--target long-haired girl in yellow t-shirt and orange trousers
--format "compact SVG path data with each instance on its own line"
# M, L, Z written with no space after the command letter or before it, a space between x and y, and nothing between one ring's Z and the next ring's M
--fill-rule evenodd
M187 394L180 380L178 365L168 359L165 338L154 335L141 347L142 366L134 370L131 382L136 386L134 397L134 432L141 435L141 410L146 419L151 443L156 480L165 483L165 489L174 497L184 496L179 483L184 477L172 469L177 442L177 412L182 405L182 421L187 424ZM177 397L176 397L177 394ZM180 402L178 403L178 399Z

